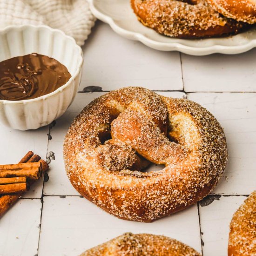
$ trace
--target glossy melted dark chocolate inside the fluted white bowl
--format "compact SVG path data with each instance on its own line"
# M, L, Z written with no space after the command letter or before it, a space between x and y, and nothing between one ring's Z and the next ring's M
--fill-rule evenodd
M20 101L54 92L71 74L59 61L28 54L0 62L0 100Z

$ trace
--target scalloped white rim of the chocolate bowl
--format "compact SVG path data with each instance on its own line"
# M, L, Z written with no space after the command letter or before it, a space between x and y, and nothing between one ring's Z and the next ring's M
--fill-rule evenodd
M53 96L55 94L58 94L58 93L62 92L63 89L67 88L76 79L76 77L81 72L81 67L82 67L82 64L83 64L83 51L82 51L81 47L76 43L76 41L74 40L73 37L65 34L60 29L52 28L52 27L49 27L49 26L46 26L46 25L38 25L38 26L37 25L30 25L30 24L10 25L10 26L7 26L7 27L5 27L3 29L0 29L0 34L8 33L8 31L13 30L13 29L14 30L24 30L24 29L30 28L30 27L33 27L35 29L44 28L44 29L49 30L52 33L62 34L64 37L66 37L67 39L71 40L74 43L74 47L77 48L79 50L79 53L80 53L80 56L78 58L78 64L79 65L77 66L77 68L76 68L76 70L74 72L74 75L71 75L71 78L64 85L62 85L61 87L59 87L55 91L53 91L53 92L51 92L49 94L42 95L42 96L34 98L34 99L28 99L28 100L20 100L20 101L0 100L0 102L2 102L3 104L26 104L26 103L30 103L30 102L34 102L34 101L46 100L48 97L51 97L51 96Z

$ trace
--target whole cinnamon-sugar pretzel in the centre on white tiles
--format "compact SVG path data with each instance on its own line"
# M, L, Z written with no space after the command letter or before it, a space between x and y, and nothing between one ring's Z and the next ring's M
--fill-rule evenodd
M64 141L67 175L108 213L152 222L215 188L227 162L223 130L193 101L128 87L92 101ZM148 164L162 164L145 172Z

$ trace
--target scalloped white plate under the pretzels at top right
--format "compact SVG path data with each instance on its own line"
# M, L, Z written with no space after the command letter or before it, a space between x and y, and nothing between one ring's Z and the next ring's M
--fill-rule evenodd
M190 55L239 54L256 47L256 27L225 38L185 40L163 36L143 26L130 7L130 0L89 0L92 13L112 29L131 40L141 41L161 51L180 51Z

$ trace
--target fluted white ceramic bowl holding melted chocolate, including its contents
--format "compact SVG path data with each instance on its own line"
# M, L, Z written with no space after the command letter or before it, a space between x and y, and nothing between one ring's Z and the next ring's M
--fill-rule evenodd
M0 125L28 130L59 118L81 81L82 50L47 26L0 30Z

